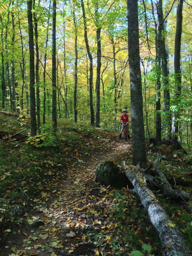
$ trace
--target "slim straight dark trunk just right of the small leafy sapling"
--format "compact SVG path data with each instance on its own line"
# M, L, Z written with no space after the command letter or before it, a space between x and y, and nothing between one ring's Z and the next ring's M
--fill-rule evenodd
M56 92L56 0L52 3L52 128L57 131L57 92Z

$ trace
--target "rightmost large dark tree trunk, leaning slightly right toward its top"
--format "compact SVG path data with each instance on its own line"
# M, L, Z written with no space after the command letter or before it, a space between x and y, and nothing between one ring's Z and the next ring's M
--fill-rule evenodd
M180 46L181 46L181 34L182 34L182 15L183 0L178 0L177 4L177 24L175 33L175 54L174 54L174 67L175 67L175 105L180 103L181 95L181 68L180 68ZM173 113L173 137L172 141L175 148L178 147L178 131L179 124L178 120L180 118L180 109L174 111Z

